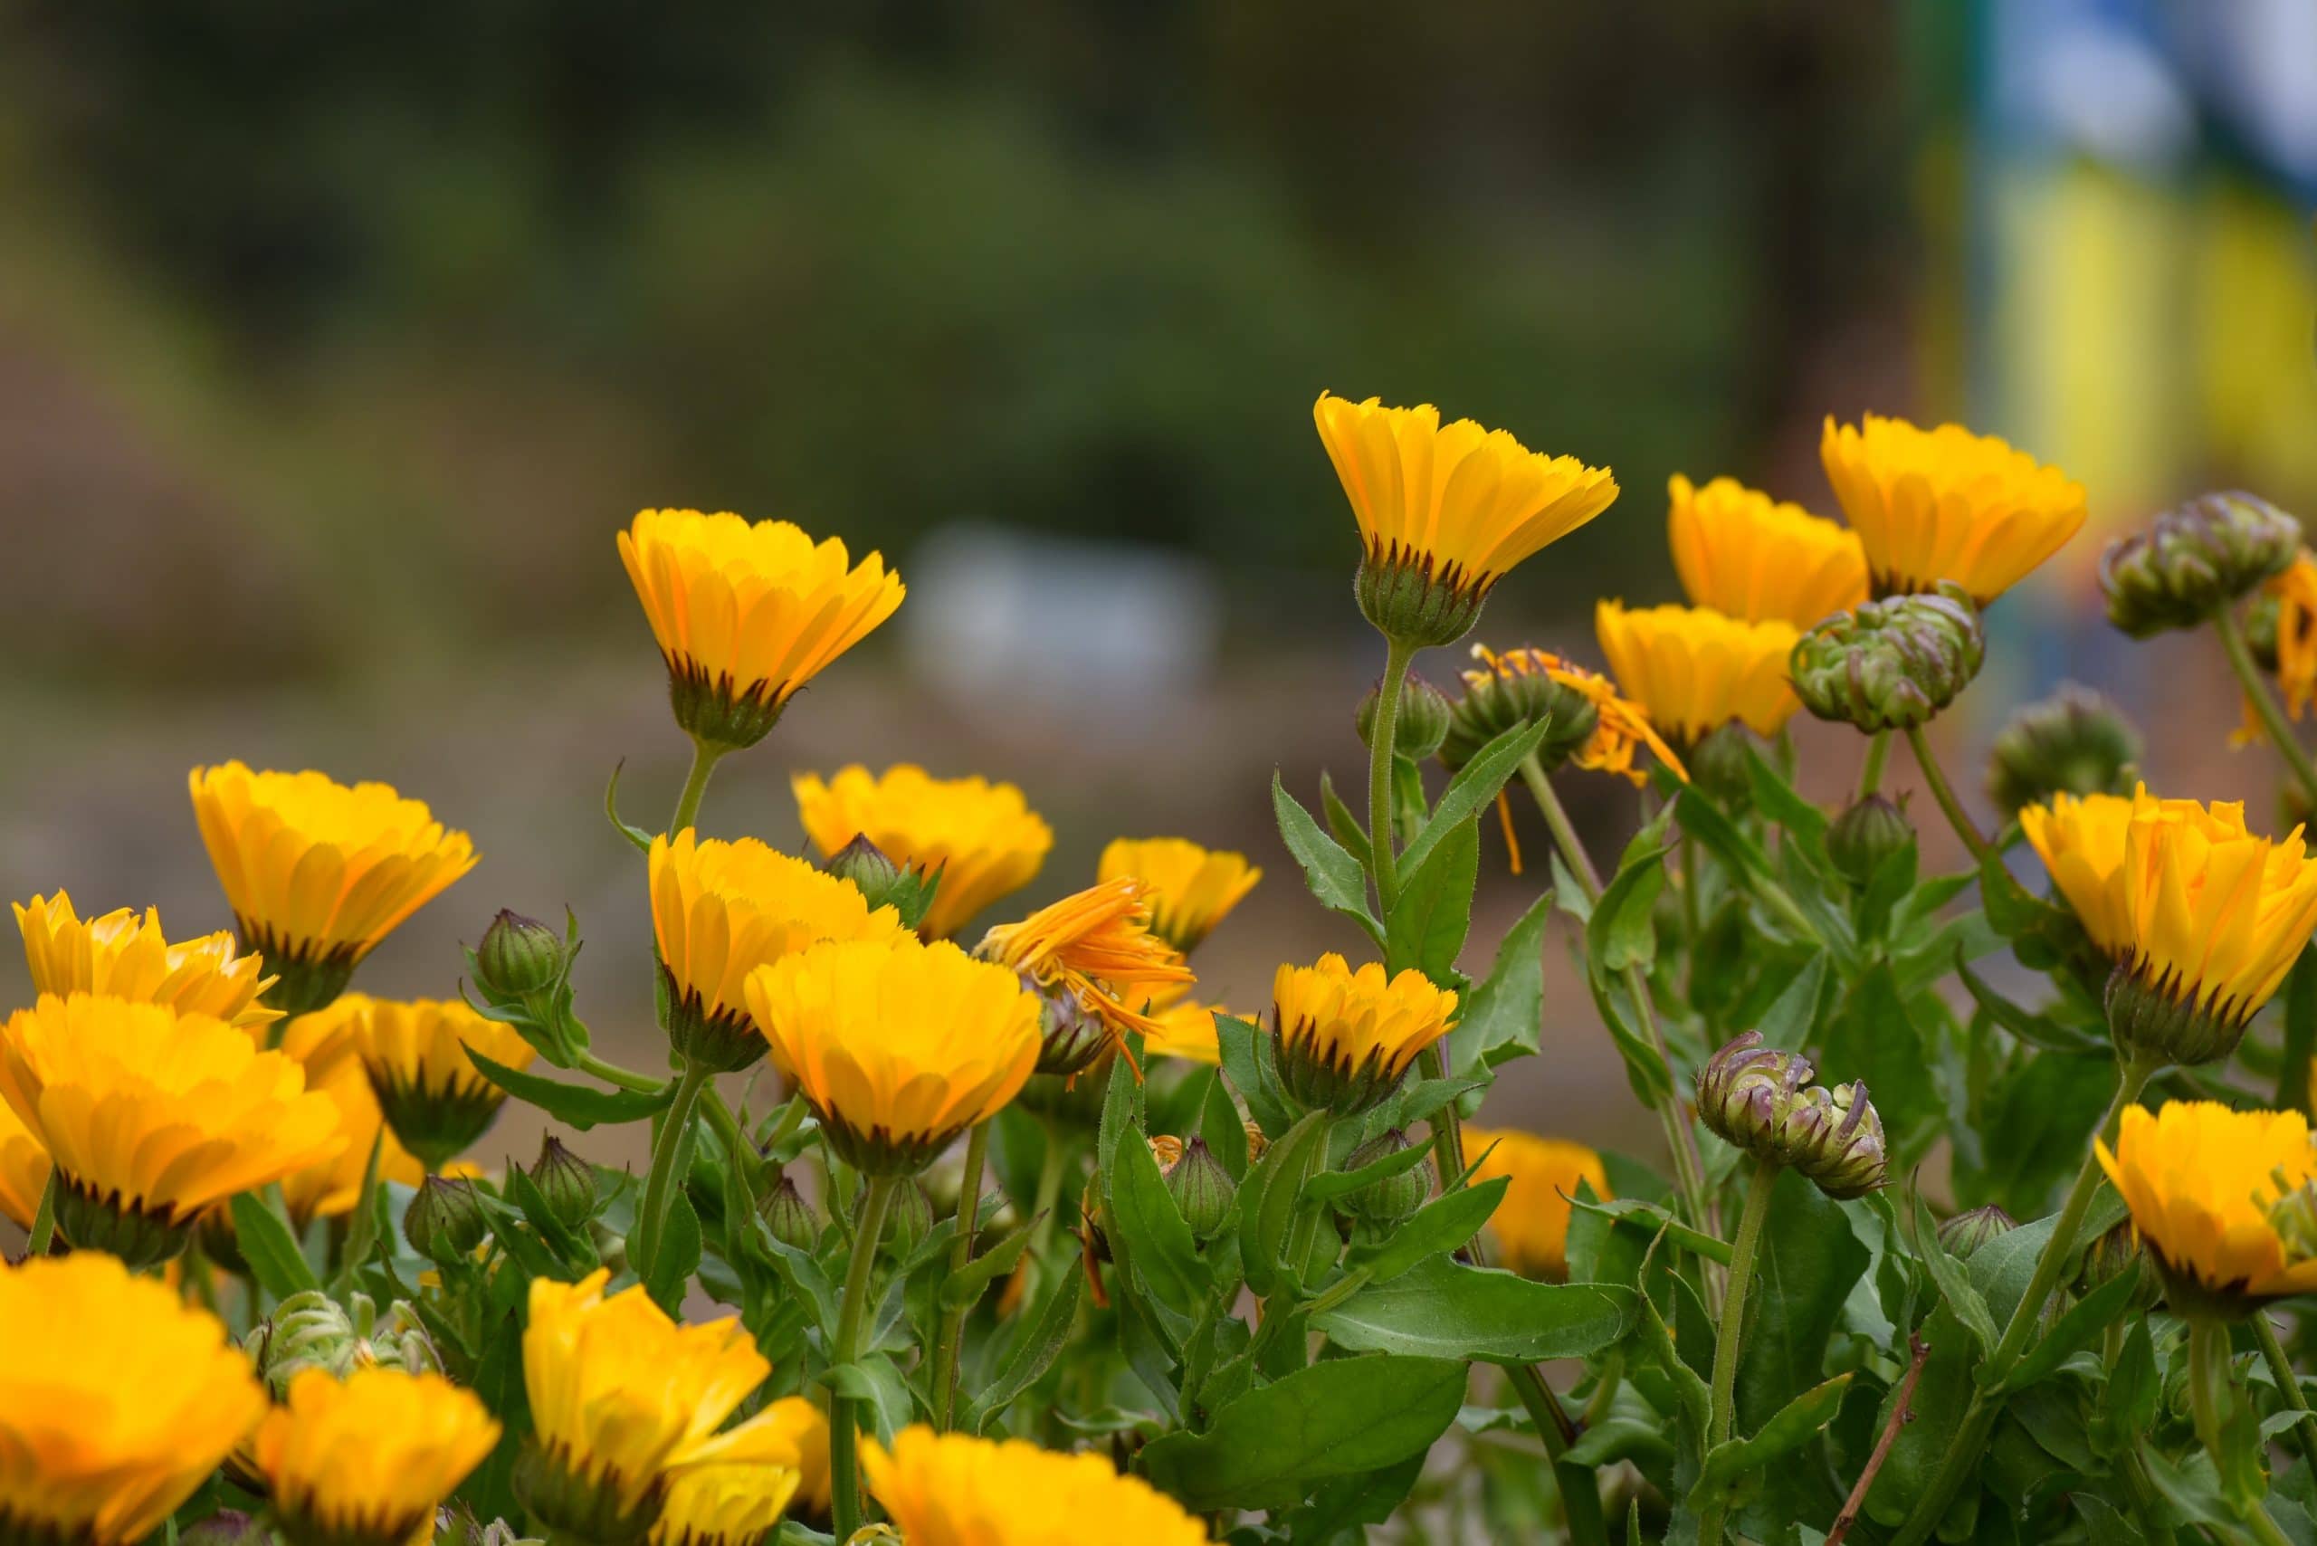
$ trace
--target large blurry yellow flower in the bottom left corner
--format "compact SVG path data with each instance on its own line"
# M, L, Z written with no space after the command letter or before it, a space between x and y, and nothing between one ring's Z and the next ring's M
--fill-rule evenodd
M0 1347L7 1541L132 1546L266 1412L218 1317L102 1252L0 1261Z

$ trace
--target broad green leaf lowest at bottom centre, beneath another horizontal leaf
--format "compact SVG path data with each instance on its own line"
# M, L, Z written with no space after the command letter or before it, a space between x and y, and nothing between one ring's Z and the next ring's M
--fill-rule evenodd
M1140 1467L1186 1509L1291 1509L1318 1483L1432 1449L1464 1400L1455 1358L1335 1358L1249 1391L1207 1432L1170 1432Z

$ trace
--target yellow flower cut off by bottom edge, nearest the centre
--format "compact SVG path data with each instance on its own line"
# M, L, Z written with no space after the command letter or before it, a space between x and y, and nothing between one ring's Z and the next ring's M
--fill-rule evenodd
M1198 1546L1205 1525L1179 1502L1121 1476L1094 1453L1054 1453L1024 1439L973 1439L922 1423L892 1453L862 1444L869 1490L908 1546Z

